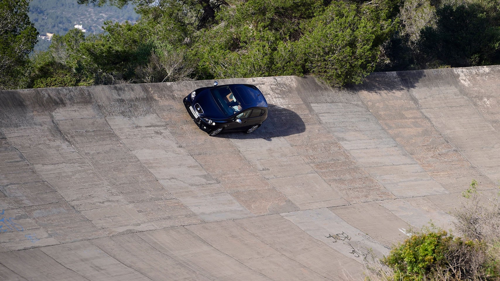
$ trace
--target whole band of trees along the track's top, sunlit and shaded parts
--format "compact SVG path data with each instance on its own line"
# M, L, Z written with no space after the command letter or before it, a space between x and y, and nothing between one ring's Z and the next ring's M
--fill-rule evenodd
M134 4L140 18L54 35L13 87L303 74L342 86L371 71L500 64L496 0L78 3Z

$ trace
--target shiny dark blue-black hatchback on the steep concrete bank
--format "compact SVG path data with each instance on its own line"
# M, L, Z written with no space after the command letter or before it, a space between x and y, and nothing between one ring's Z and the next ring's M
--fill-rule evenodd
M224 131L250 133L267 118L267 101L250 84L218 85L193 90L184 97L187 112L200 129L213 136Z

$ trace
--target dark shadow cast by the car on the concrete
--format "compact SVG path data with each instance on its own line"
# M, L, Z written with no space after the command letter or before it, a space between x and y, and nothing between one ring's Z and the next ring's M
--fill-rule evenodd
M302 118L294 111L274 104L268 104L267 109L267 119L255 131L251 133L243 131L219 133L215 137L235 139L263 138L272 141L273 137L292 135L305 131L305 124Z

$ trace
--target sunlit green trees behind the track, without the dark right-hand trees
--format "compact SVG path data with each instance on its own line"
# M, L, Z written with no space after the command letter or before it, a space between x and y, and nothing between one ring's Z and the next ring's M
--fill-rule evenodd
M118 6L127 0L82 3ZM54 35L37 55L33 86L172 81L313 73L331 85L360 82L397 26L396 0L134 0L135 24L106 33ZM46 59L45 61L40 61ZM45 64L43 64L43 63ZM51 65L43 71L40 65ZM49 79L52 77L53 79Z

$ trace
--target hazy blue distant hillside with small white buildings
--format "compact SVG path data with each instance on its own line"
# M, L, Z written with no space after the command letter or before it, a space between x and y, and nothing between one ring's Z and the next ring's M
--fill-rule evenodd
M76 0L32 0L29 3L29 18L40 33L54 33L64 35L75 24L81 24L85 33L101 33L102 23L105 20L135 22L138 14L133 5L126 5L119 9L115 6L79 5ZM38 37L35 50L46 50L50 42L46 38Z

